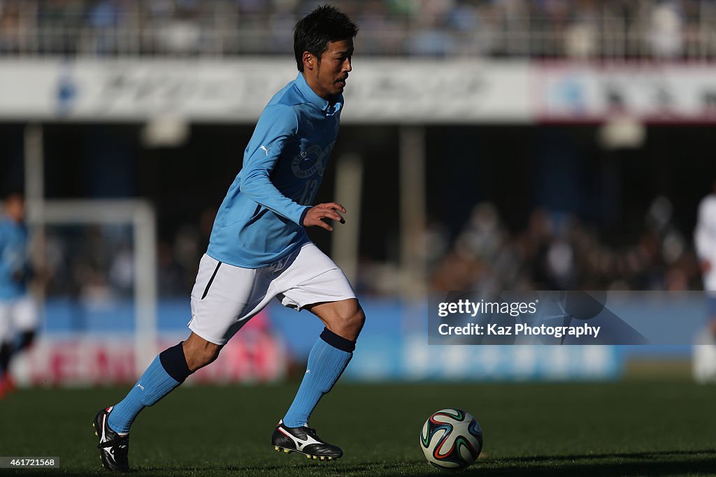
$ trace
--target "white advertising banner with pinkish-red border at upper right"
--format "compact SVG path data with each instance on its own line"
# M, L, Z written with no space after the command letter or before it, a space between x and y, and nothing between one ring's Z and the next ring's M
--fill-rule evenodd
M667 62L534 64L537 122L716 122L716 66Z

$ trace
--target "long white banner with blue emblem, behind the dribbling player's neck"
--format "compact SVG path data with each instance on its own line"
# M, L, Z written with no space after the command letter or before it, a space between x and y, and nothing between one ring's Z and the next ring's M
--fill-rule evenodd
M344 122L526 122L524 62L360 59ZM254 122L294 59L4 60L0 119Z

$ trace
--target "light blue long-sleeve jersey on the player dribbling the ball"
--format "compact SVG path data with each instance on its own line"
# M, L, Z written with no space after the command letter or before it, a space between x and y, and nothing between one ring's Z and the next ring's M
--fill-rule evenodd
M214 220L210 257L265 267L309 242L302 222L323 180L342 107L342 96L326 101L301 73L271 98Z

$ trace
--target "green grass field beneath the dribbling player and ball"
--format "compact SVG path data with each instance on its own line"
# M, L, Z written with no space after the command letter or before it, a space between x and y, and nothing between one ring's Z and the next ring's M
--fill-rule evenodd
M311 419L345 457L316 463L269 445L295 384L184 387L145 409L130 463L142 476L439 476L418 446L440 408L483 426L483 457L458 475L716 476L716 387L621 383L340 384ZM18 390L0 401L0 456L56 456L59 470L108 475L91 421L123 388Z

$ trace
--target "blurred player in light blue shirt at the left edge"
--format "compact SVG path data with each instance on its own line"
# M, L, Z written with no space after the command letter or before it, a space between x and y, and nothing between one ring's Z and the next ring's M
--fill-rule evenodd
M11 192L0 217L0 397L14 388L9 374L11 358L32 344L37 310L27 290L30 271L25 202Z

